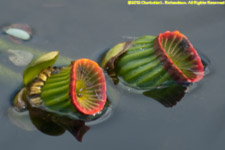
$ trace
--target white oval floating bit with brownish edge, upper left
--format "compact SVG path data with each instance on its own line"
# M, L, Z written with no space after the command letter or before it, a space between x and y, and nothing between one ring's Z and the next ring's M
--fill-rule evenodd
M9 36L20 40L30 40L32 36L31 27L27 24L12 24L3 30Z

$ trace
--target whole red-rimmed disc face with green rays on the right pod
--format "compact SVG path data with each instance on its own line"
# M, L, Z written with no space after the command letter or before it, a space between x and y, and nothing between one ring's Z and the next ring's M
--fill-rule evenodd
M159 60L178 82L197 82L204 76L201 58L179 31L161 33L154 41Z

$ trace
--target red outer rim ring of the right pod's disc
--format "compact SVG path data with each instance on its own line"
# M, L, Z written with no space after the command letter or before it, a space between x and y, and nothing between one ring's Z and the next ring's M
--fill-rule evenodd
M196 75L194 78L187 77L174 63L173 60L168 56L165 49L162 46L161 40L163 37L178 37L180 39L185 40L188 43L188 47L185 48L185 51L189 53L193 53L193 56L190 58L190 61L195 59L195 65L197 67L192 68L194 74ZM158 37L154 41L155 52L159 58L159 60L163 63L164 68L168 71L171 77L178 82L198 82L204 76L204 66L201 62L201 58L199 57L197 51L194 49L192 44L189 42L188 38L181 34L179 31L166 31L158 35Z

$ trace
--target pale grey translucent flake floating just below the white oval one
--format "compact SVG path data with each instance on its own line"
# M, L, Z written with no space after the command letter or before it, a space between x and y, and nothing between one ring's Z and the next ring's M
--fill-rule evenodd
M33 59L33 54L22 50L9 49L8 53L10 54L9 60L16 66L26 66Z

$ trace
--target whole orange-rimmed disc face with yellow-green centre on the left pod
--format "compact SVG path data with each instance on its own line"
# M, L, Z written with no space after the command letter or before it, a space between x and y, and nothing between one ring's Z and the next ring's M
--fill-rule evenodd
M74 106L85 115L100 112L106 103L105 76L99 65L89 59L73 63L70 98Z

